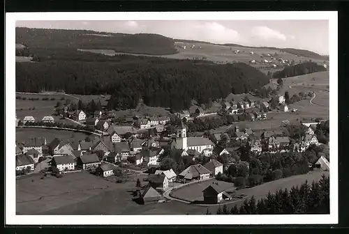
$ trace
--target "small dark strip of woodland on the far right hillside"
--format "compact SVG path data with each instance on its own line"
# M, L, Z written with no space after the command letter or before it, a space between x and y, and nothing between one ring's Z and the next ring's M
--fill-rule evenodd
M322 65L318 65L317 63L307 62L307 63L299 63L297 65L292 65L290 67L285 67L283 70L274 72L273 78L287 78L287 77L295 77L299 75L306 75L313 72L325 72L327 71Z

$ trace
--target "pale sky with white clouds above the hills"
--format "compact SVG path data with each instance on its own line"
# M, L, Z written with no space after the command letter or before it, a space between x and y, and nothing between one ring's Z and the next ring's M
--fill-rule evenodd
M169 38L218 44L308 49L329 54L328 20L224 21L17 21L38 29L88 29L112 33L157 33Z

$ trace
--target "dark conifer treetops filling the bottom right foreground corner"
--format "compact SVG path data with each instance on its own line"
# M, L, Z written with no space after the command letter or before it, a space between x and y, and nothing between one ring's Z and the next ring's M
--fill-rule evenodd
M209 208L206 214L211 214ZM329 214L329 177L322 175L311 185L306 181L300 187L269 192L258 201L252 196L230 210L227 205L219 206L216 214Z

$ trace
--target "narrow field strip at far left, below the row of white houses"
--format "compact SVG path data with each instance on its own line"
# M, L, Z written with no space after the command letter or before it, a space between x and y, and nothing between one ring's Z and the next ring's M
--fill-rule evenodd
M84 132L73 132L66 130L52 130L42 128L16 128L16 141L24 142L29 137L45 137L47 143L54 138L71 139L75 141L84 140L89 134Z

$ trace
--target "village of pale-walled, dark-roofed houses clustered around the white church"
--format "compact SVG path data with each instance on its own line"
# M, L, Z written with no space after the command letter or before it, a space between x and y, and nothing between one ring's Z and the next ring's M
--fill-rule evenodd
M239 126L241 116L253 122L266 120L271 111L297 111L288 109L283 95L277 95L274 100L277 100L274 109L270 107L272 100L255 102L252 98L245 98L239 102L223 102L221 109L214 115L232 116L235 123L227 126L221 134L202 136L188 132L187 124L211 116L212 113L204 113L201 107L195 105L188 111L172 116L128 116L120 124L114 121L112 111L104 108L93 112L79 109L70 111L67 104L56 109L56 112L59 112L61 118L80 125L75 130L90 132L91 135L82 141L54 138L47 142L40 136L28 136L24 142L16 141L16 175L22 177L41 173L45 180L47 176L61 178L66 173L80 171L103 178L118 177L123 173L145 174L148 176L142 179L142 183L145 181L146 185L135 192L135 196L143 203L172 199L186 202L185 198L176 196L176 189L202 181L207 187L200 187L202 191L199 192L202 192L204 198L201 203L228 202L234 199L235 189L231 189L231 185L221 185L221 182L227 181L222 177L227 177L227 171L234 165L239 167L244 164L247 171L250 170L249 163L242 156L246 150L247 155L304 153L309 147L323 145L315 132L325 120L296 126L303 130L302 137L287 133L281 127L280 130L265 130L262 134L255 134L250 127ZM16 116L16 127L52 126L56 125L50 115L42 119L33 116L17 119ZM172 155L183 158L181 162L185 159L184 166L187 167L182 165L181 168L171 168L166 158ZM307 166L311 170L329 171L329 161L324 155ZM244 176L247 177L248 173ZM205 184L211 178L219 182ZM238 182L234 184L234 187L239 187ZM139 178L137 185L140 186ZM241 198L235 196L235 200L237 197Z

